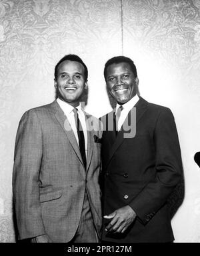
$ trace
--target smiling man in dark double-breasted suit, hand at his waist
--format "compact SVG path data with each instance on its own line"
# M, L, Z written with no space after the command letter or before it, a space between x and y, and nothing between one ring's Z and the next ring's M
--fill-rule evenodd
M117 105L101 119L103 241L171 242L167 199L182 173L173 114L137 95L131 59L109 59L104 76Z

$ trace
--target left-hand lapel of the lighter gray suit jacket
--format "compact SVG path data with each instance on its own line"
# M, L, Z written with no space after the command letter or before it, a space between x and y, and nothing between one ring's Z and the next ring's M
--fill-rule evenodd
M81 163L84 167L81 153L79 150L79 145L77 144L77 140L75 138L73 130L69 129L71 126L69 124L69 121L68 121L65 113L63 112L61 107L59 107L59 104L57 103L56 100L53 101L53 103L51 103L50 105L51 105L51 109L53 110L53 113L55 114L55 118L57 119L57 121L59 122L61 127L63 128L63 131L64 131L65 135L67 135L67 139L71 143L71 146L73 147L73 150L75 151L75 154L77 155L77 157L79 158L79 160L81 161ZM85 173L83 173L83 177L84 176L85 176Z

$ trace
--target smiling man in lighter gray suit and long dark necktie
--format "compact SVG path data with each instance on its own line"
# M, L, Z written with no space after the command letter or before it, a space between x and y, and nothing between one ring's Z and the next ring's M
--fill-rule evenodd
M19 123L13 199L19 239L98 242L101 237L99 121L81 108L87 67L77 55L55 66L58 98Z

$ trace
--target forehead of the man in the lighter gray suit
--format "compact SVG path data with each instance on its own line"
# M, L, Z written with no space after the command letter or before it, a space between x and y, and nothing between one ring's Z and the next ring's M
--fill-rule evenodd
M77 61L63 61L59 64L57 73L84 73L84 67Z

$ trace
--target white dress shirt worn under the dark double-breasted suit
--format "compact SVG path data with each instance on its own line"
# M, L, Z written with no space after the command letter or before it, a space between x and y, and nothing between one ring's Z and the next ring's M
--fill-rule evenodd
M119 117L119 121L118 121L118 127L117 127L117 131L119 131L121 129L121 126L123 125L123 122L125 121L129 111L131 109L133 109L133 107L135 106L135 104L137 103L137 101L139 101L139 97L137 96L137 94L130 99L127 103L123 104L123 110L121 111L121 115ZM115 113L117 113L117 109L119 109L121 105L119 105L117 103L116 105L116 111Z

